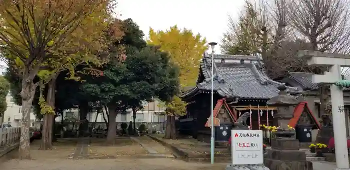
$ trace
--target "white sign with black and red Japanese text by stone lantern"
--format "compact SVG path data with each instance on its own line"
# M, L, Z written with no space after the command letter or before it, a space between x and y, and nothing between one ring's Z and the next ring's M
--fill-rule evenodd
M231 130L232 164L263 164L261 130Z

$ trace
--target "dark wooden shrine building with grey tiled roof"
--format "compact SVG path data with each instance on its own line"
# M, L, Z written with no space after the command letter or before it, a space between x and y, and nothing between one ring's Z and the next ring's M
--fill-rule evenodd
M180 134L191 135L198 140L209 142L209 117L211 114L211 78L214 78L214 117L220 119L220 128L229 132L227 126L243 113L250 113L247 124L250 129L259 129L260 124L273 126L276 107L266 105L266 101L277 96L280 82L270 79L259 56L204 53L200 61L199 75L195 87L187 89L181 99L187 102L187 114L177 121ZM214 75L211 75L211 69ZM300 93L298 88L287 86L288 93ZM300 116L299 116L300 117ZM296 123L298 120L293 120ZM314 123L314 121L312 121Z

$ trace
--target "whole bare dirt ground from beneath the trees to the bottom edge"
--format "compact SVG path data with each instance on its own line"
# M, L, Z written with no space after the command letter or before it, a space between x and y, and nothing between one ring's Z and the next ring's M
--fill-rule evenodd
M34 141L30 144L33 160L16 159L18 152L14 150L0 159L0 166L6 170L223 170L226 167L226 164L188 163L155 156L171 153L147 136L116 141L113 146L104 146L103 139L59 140L53 150L47 151L37 150L40 141Z

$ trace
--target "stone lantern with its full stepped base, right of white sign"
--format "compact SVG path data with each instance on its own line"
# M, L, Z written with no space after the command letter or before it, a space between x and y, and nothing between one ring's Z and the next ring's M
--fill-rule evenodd
M312 170L312 162L306 161L306 153L300 151L299 140L292 138L295 130L288 128L288 123L293 117L294 106L300 100L289 95L285 90L286 86L280 85L278 96L267 101L268 105L277 107L277 114L274 114L273 120L278 124L274 134L276 137L271 139L271 149L267 149L267 155L264 158L264 164L269 169L290 169L290 170Z

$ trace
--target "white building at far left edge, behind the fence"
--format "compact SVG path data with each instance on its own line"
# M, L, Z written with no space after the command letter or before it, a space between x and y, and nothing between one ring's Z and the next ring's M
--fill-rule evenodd
M22 106L19 106L14 103L14 98L12 97L11 93L9 92L6 96L6 102L7 102L7 109L1 117L0 124L10 124L12 127L19 127L21 125L21 119L22 119ZM31 111L30 113L30 126L33 126L35 122L35 115Z

